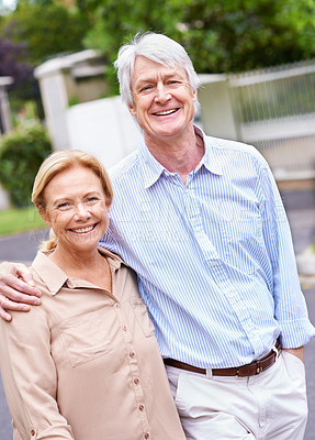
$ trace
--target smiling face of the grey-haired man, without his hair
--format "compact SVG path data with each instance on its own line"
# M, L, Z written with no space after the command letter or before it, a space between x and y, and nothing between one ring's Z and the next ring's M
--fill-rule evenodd
M146 142L180 136L192 123L196 91L182 67L168 67L137 56L132 78L132 116L144 130Z

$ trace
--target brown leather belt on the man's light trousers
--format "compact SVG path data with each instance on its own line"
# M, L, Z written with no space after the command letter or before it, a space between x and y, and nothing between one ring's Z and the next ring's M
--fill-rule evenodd
M271 365L274 364L277 356L281 351L281 344L279 341L275 343L275 349L273 348L265 358L259 361L254 361L250 364L235 366L232 369L212 369L213 376L237 376L237 377L247 377L255 376L263 371L268 370ZM198 366L185 364L184 362L176 361L173 359L165 359L164 363L166 365L176 366L180 370L187 370L193 373L206 374L205 369L199 369Z

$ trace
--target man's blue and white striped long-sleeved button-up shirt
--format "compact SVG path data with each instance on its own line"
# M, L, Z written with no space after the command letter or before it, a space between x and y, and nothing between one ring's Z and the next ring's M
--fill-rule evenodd
M315 336L271 172L246 144L205 136L187 184L146 148L111 169L101 242L138 275L164 358L229 367Z

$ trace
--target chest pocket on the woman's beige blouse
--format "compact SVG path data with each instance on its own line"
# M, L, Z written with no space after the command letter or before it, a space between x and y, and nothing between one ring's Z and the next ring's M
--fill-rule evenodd
M57 326L67 359L72 367L112 351L108 308L66 319Z

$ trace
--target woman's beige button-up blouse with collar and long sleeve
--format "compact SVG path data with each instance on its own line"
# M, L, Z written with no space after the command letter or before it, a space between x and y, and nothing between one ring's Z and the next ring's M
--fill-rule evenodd
M135 274L108 251L113 293L69 278L40 252L42 306L0 320L14 440L183 440Z

